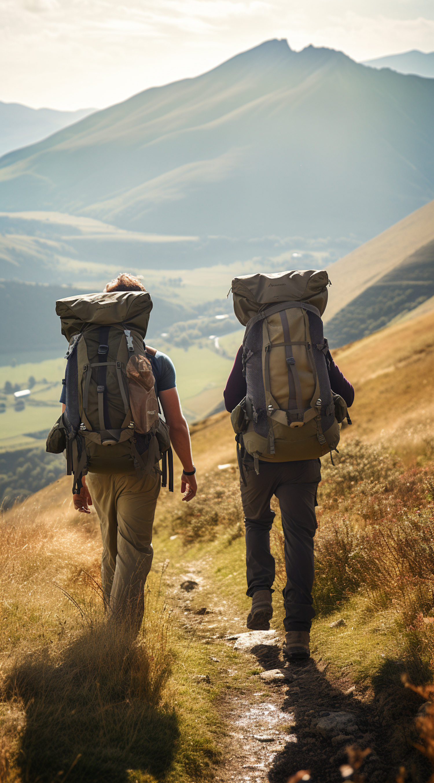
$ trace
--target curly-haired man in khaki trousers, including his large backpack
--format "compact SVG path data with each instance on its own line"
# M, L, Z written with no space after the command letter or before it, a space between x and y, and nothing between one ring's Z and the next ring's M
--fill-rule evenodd
M50 451L66 447L75 509L89 514L93 503L98 514L106 608L134 630L143 619L157 497L167 479L173 491L170 442L183 465L183 500L197 492L175 367L143 339L151 308L145 287L129 274L107 283L103 294L56 302L70 348L62 417L47 441Z

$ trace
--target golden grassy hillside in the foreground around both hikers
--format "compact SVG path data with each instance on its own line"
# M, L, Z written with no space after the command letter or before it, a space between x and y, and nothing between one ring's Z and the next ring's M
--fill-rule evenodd
M29 783L51 781L59 770L77 783L226 781L244 736L236 705L248 713L251 734L254 710L264 700L269 710L286 710L291 734L284 748L269 752L264 774L286 780L309 758L309 768L319 759L324 778L337 780L345 753L339 756L338 745L310 727L319 709L332 704L333 712L345 704L350 712L363 710L370 723L360 742L372 747L377 741L385 765L380 774L374 756L366 779L395 780L400 774L402 780L400 767L407 767L413 783L426 781L428 767L413 747L421 701L400 677L407 671L415 682L431 680L434 659L434 431L432 402L421 395L421 388L432 387L432 345L430 313L336 352L356 400L354 424L342 431L335 467L328 457L322 460L312 632L313 671L322 674L309 709L298 702L306 703L304 670L297 687L284 687L273 706L275 686L259 680L262 664L272 663L259 657L258 664L225 641L228 631L245 630L248 611L228 414L191 427L196 500L181 504L178 491L161 493L150 592L136 644L110 636L104 626L96 516L82 519L71 511L71 479L3 515L0 768L8 783L24 774ZM180 470L175 459L176 482ZM273 627L281 634L284 561L272 503ZM179 584L192 578L198 586L187 600ZM338 626L331 626L335 621ZM429 722L426 727L431 731ZM285 762L280 767L279 759ZM241 774L246 777L245 767Z

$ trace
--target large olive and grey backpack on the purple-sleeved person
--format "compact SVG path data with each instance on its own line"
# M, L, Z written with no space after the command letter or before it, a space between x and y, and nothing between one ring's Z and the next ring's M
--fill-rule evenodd
M327 272L277 272L236 277L233 309L246 327L243 373L247 395L233 410L243 478L243 450L255 460L312 460L336 449L347 416L331 391L321 316Z

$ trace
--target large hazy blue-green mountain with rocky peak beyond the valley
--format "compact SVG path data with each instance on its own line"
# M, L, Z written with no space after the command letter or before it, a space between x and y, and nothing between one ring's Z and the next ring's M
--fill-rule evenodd
M0 161L2 211L188 236L369 239L434 197L434 82L266 41ZM223 260L223 259L222 259Z

